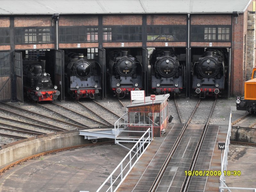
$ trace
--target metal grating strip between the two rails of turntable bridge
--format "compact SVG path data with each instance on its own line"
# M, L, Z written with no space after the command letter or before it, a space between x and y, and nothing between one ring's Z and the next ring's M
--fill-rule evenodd
M204 124L188 125L156 188L156 192L180 192L186 179L185 171L189 171L203 129Z

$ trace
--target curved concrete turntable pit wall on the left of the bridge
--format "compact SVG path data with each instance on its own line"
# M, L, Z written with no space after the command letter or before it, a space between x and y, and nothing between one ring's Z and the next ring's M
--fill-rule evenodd
M98 142L101 140L111 141L100 139ZM56 134L21 140L14 144L1 146L3 148L0 149L0 169L15 161L46 151L89 143L91 140L85 140L83 136L79 135L79 131L57 132Z

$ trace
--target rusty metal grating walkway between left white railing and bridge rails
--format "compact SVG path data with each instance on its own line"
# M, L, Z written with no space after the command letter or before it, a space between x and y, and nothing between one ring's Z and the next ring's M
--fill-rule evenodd
M170 126L170 125L169 125ZM175 124L166 137L156 137L134 165L118 192L149 191L184 124ZM167 129L168 130L168 129Z

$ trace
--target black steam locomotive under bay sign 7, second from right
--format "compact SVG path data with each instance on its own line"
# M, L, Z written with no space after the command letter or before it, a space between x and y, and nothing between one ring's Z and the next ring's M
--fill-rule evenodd
M150 55L151 87L156 94L179 93L183 89L183 65L171 49L155 49Z

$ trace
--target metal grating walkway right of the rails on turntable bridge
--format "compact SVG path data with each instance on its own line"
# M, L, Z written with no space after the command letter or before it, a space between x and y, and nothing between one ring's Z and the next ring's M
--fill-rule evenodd
M201 147L199 156L196 161L195 171L202 171L204 170L211 170L211 167L220 166L220 162L216 159L212 159L215 143L217 140L217 135L219 132L219 126L209 125L207 132L204 137L203 145ZM214 191L214 187L219 187L220 181L217 178L209 177L208 176L192 176L191 180L188 185L188 192L194 191ZM208 181L207 185L206 182ZM217 181L217 183L216 183ZM219 191L219 188L218 188Z

